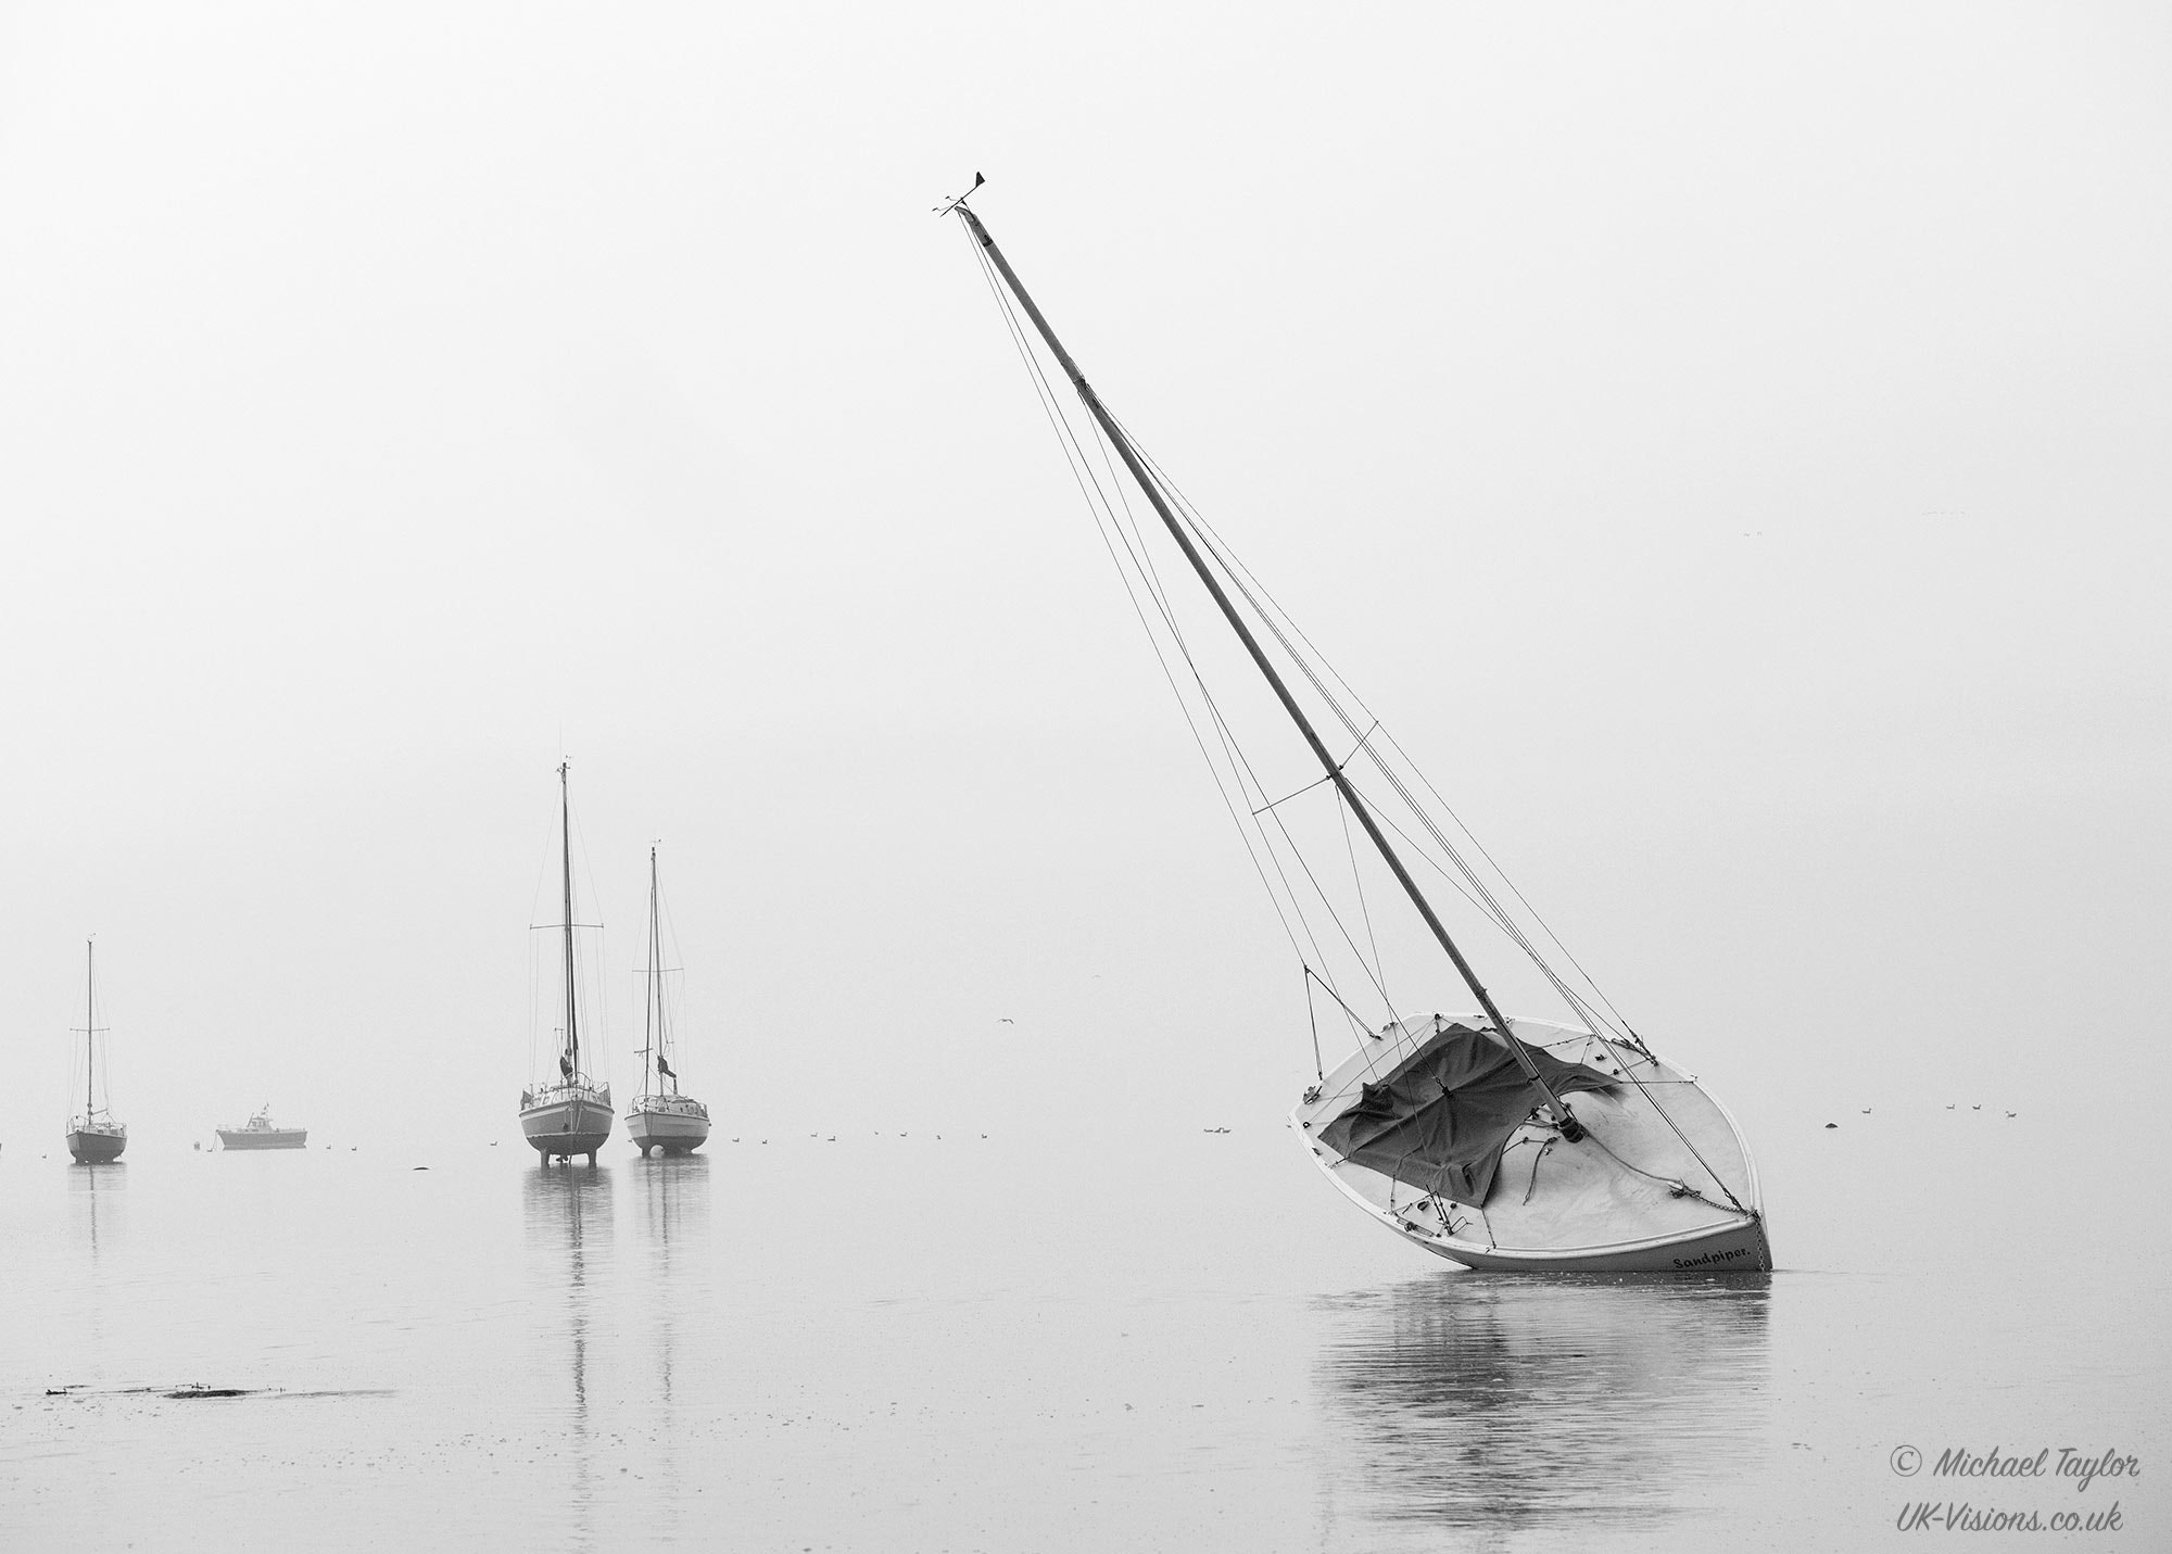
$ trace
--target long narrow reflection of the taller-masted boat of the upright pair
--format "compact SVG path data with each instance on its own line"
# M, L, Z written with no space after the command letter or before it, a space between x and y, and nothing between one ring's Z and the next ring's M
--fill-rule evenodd
M534 1343L536 1370L552 1363L556 1343L565 1346L569 1387L565 1409L565 1452L569 1467L560 1480L563 1502L539 1506L547 1517L550 1534L563 1539L567 1547L595 1547L591 1517L597 1498L597 1465L593 1461L597 1443L589 1422L591 1389L591 1324L595 1330L610 1330L610 1322L597 1322L597 1307L610 1289L610 1170L591 1166L578 1172L523 1172L523 1207L528 1233L530 1276L539 1283L556 1281L563 1287L558 1302L543 1302L539 1313L550 1313L550 1326L558 1333L539 1333ZM539 1398L550 1398L550 1387L539 1387ZM608 1398L608 1391L606 1391ZM547 1406L547 1404L545 1404ZM563 1515L563 1519L560 1519Z

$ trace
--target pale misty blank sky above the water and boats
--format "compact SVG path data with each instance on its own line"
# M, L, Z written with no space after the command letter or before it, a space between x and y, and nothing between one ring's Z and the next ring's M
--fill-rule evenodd
M1297 970L930 217L975 169L1753 1142L2124 1050L2168 65L2142 4L9 7L0 1139L89 931L146 1144L517 1137L560 755L621 1083L662 838L728 1131L1271 1120Z

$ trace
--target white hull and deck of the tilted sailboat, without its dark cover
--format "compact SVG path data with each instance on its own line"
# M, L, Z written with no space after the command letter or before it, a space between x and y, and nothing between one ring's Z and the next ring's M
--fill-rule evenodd
M1479 1016L1449 1020L1479 1024ZM1618 1074L1622 1083L1570 1100L1588 1131L1579 1144L1551 1126L1518 1129L1483 1205L1412 1189L1318 1142L1368 1081L1384 1079L1431 1040L1434 1020L1368 1040L1366 1050L1351 1055L1290 1113L1290 1124L1340 1194L1405 1241L1466 1268L1562 1274L1772 1270L1757 1168L1725 1107L1688 1074L1633 1048L1607 1046L1590 1031L1546 1020L1512 1024L1527 1046Z

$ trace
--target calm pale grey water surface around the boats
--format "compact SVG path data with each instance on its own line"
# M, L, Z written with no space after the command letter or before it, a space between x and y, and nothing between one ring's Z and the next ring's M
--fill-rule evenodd
M2172 1547L2148 1146L1998 1122L1759 1137L1783 1272L1701 1281L1457 1274L1268 1126L9 1142L0 1545L1851 1550L1970 1500Z

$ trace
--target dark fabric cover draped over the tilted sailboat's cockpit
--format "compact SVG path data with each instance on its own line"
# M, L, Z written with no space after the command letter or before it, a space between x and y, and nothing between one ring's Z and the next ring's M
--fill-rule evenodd
M1618 1083L1542 1048L1527 1050L1557 1096ZM1381 1083L1366 1085L1349 1111L1321 1129L1318 1139L1384 1176L1483 1205L1501 1150L1544 1100L1507 1044L1468 1024L1451 1024Z

